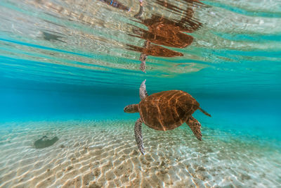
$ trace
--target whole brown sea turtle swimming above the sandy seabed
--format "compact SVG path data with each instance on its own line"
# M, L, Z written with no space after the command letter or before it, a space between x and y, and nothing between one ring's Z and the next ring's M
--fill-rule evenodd
M135 123L135 137L138 149L144 154L143 135L141 125L145 123L155 130L174 130L183 123L188 124L197 139L202 140L201 124L192 117L197 109L205 115L209 115L200 108L200 104L187 92L181 90L169 90L148 96L145 89L145 80L140 87L141 102L130 104L124 108L126 113L140 113Z

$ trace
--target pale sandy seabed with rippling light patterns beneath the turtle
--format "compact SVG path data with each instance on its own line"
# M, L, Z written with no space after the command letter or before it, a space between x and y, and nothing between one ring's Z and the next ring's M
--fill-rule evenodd
M133 120L1 124L0 187L278 187L281 152L202 127L160 132L143 125L145 155ZM35 149L44 135L58 142Z

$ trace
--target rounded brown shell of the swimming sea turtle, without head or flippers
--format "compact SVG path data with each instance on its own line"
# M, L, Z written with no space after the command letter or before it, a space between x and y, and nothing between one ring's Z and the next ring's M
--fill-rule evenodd
M155 130L173 130L188 120L200 104L187 92L170 90L145 97L138 111L145 125Z

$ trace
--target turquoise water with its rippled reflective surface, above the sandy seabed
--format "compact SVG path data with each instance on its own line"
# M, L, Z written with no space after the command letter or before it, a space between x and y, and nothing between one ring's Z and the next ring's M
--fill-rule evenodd
M140 5L131 0L0 1L0 126L134 121L138 113L123 108L140 101L146 79L148 94L180 89L197 99L212 117L194 116L212 137L228 139L226 132L280 155L281 2L143 4L135 18Z

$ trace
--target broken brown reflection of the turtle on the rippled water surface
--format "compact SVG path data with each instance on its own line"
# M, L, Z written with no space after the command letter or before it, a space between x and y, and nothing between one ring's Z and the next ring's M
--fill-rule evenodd
M185 34L185 32L195 32L200 26L201 23L192 19L194 11L192 6L201 4L197 0L185 0L188 2L188 8L183 10L174 5L168 4L164 1L157 0L157 4L169 8L169 10L178 13L179 11L184 12L185 16L181 20L170 20L164 16L159 16L152 14L151 18L142 19L141 15L143 14L143 1L140 1L140 10L134 16L137 18L139 23L148 27L148 30L144 30L141 27L136 27L133 29L135 35L133 37L139 37L145 39L145 44L142 47L133 46L127 44L134 51L141 52L140 61L141 61L141 70L145 72L145 60L147 56L162 56L162 57L174 57L174 56L183 56L180 52L173 51L171 49L166 49L163 46L169 46L174 48L185 48L186 46L192 44L193 37ZM154 44L152 44L154 43ZM162 46L158 46L159 44Z

